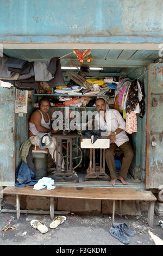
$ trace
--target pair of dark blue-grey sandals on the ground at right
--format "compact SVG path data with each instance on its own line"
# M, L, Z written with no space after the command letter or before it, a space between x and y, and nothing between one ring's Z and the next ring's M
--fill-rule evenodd
M110 235L114 236L116 239L120 240L122 243L128 245L130 240L127 236L134 236L134 232L131 231L126 223L113 223L114 228L110 228ZM125 234L125 235L124 235Z

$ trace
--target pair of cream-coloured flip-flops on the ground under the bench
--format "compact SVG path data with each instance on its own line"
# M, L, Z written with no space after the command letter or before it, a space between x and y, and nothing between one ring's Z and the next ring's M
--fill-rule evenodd
M51 222L51 224L49 224L49 228L52 228L52 229L57 228L58 225L64 223L65 221L66 221L66 217L65 216L55 217L54 220ZM46 225L42 221L32 220L30 222L30 225L34 229L39 230L42 234L45 234L48 231L48 228L46 227Z

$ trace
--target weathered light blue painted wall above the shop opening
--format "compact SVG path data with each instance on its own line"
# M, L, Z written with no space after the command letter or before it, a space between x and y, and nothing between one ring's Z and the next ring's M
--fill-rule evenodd
M162 35L162 0L0 1L0 35Z

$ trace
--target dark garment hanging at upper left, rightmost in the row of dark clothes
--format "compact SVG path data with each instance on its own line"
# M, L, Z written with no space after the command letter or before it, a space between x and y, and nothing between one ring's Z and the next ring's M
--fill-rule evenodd
M52 80L49 80L47 83L49 87L54 88L57 86L64 86L65 85L65 80L62 75L61 71L61 64L60 64L60 59L59 57L54 57L50 60L47 70L51 72L51 74L54 76Z

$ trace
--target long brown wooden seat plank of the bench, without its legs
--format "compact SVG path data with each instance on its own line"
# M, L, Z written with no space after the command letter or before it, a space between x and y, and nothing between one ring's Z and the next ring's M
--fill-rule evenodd
M55 187L54 190L33 190L33 186L5 187L4 194L24 194L29 196L102 199L102 200L147 200L155 201L151 191L139 191L134 188L99 188L99 187Z

